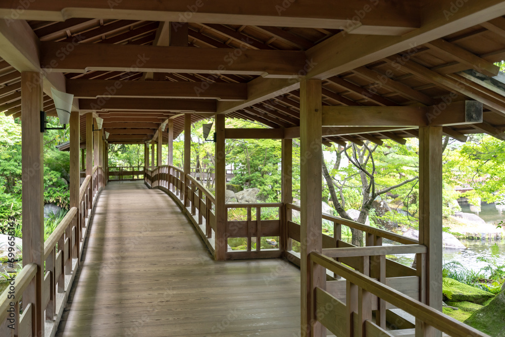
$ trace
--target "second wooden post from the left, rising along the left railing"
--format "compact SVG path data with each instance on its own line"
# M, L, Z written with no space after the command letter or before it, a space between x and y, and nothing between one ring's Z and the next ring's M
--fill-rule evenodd
M72 111L70 113L70 207L79 207L79 189L80 189L80 170L79 170L79 128L80 118L79 112ZM73 256L79 257L79 243L82 234L79 226L80 216L77 214L75 220L72 221L75 225L75 250ZM77 259L79 264L79 259Z

